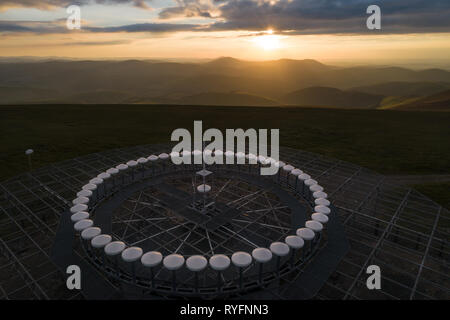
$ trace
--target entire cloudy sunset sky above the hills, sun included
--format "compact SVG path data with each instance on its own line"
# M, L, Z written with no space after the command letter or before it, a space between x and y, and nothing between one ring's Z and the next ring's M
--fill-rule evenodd
M81 30L66 27L72 4ZM448 0L1 0L0 55L445 64L449 18Z

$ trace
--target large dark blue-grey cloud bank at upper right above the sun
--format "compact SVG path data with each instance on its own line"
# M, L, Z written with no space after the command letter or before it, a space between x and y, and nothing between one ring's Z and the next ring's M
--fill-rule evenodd
M299 34L366 33L373 0L230 0L220 7L223 22L213 29L291 30ZM381 32L450 31L450 1L378 1ZM373 32L372 32L373 33Z

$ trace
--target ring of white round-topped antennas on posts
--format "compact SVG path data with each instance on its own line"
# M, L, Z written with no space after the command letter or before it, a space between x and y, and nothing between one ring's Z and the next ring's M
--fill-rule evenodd
M96 208L101 204L102 201L108 199L114 194L121 192L121 188L126 187L126 185L130 185L132 183L137 183L142 180L151 180L152 174L156 177L155 170L169 170L169 167L174 167L172 163L170 163L169 158L173 158L176 156L222 156L228 158L235 159L248 159L250 164L244 164L243 166L251 166L251 161L256 163L256 166L268 166L274 164L276 167L280 168L278 174L276 176L276 183L284 184L288 187L289 192L292 192L296 196L300 196L301 199L306 199L310 206L313 209L313 212L310 214L310 219L305 222L304 226L297 228L293 231L292 234L287 235L283 239L274 239L272 243L268 245L268 247L257 247L254 245L254 249L251 252L245 251L235 251L229 254L225 254L223 252L214 252L208 256L205 255L183 255L178 253L177 250L173 252L168 252L165 256L163 253L159 251L149 250L144 252L145 249L140 247L138 243L136 244L126 244L122 239L114 239L114 235L109 235L102 233L100 227L94 225L94 221L91 216L95 217ZM225 165L226 167L226 165ZM159 168L159 169L157 169ZM194 170L197 167L193 165ZM176 170L176 169L173 169ZM246 173L245 168L238 169L242 175L248 174ZM252 169L249 168L248 172L252 172ZM150 177L148 177L148 172L150 172ZM203 170L197 172L196 175L200 175L203 178L203 182L205 179L209 179L209 175L212 172L205 169L203 165ZM128 180L128 184L126 184L126 179ZM155 178L156 179L156 178ZM203 203L200 202L198 204L195 200L192 200L192 204L189 204L189 208L193 208L195 206L201 206L201 210L199 210L199 215L207 215L209 207L218 208L216 205L215 198L207 198L209 194L213 194L213 186L211 184L202 183L197 186L194 186L195 193L203 195ZM220 190L214 190L214 192L221 192ZM181 269L188 270L195 274L195 289L193 289L194 293L198 293L198 278L197 275L207 270L208 267L218 273L224 273L232 269L232 267L240 270L240 281L236 282L235 287L233 287L232 283L222 283L222 280L219 279L219 285L217 287L217 292L222 292L223 286L229 286L230 288L235 288L234 290L243 290L243 269L249 268L252 265L259 266L258 272L255 272L255 281L257 285L262 285L265 281L263 279L263 265L266 265L265 269L270 268L270 263L274 260L277 262L277 267L273 269L273 272L279 274L280 268L283 266L280 265L280 261L282 261L283 257L289 256L292 254L292 258L294 257L294 253L298 250L307 250L309 253L312 252L313 246L317 248L317 244L320 242L322 233L326 224L330 219L330 201L327 199L327 194L324 192L324 188L318 184L318 182L312 179L308 174L304 173L301 169L295 168L290 164L286 164L283 161L276 161L270 157L265 157L262 155L254 155L254 154L244 154L244 153L234 153L232 151L226 151L225 153L221 150L215 150L214 152L210 150L199 151L195 150L193 152L184 151L183 153L171 153L170 155L167 153L161 153L159 155L150 155L148 157L141 157L137 160L130 160L126 163L118 164L117 166L106 170L105 172L99 173L97 176L93 177L89 183L82 187L77 193L77 197L73 200L73 206L70 208L71 213L71 221L74 223L75 231L80 233L81 239L87 241L84 246L90 247L88 250L92 250L93 252L98 252L99 250L105 256L115 256L120 257L122 264L125 266L128 264L132 267L132 281L133 283L138 285L135 268L139 264L142 268L148 268L152 270L152 283L154 279L153 269L154 268L162 268L165 269L166 272L172 273L172 281L173 285L171 289L173 292L177 290L177 285L175 281L175 273ZM244 199L239 199L236 201L237 204L245 203ZM205 199L211 201L207 203ZM212 199L212 200L211 200ZM230 202L231 204L233 201ZM230 206L231 204L227 205ZM158 206L158 202L152 207L155 209ZM242 206L242 205L241 205ZM228 208L228 207L227 207ZM239 211L239 205L233 207L233 209L226 209L224 212L227 212L228 215L236 214L236 211ZM191 210L191 211L192 211ZM217 211L218 209L216 209ZM214 216L216 213L211 211L209 213L212 215L214 219L214 223L218 223L219 218ZM186 214L187 215L187 214ZM248 215L248 213L247 213ZM217 214L220 216L220 213ZM161 218L162 219L162 218ZM195 219L192 218L192 219ZM212 219L212 218L211 218ZM210 219L210 220L211 220ZM227 219L226 216L223 216L221 219ZM94 219L95 220L95 219ZM237 220L237 219L236 219ZM209 221L209 220L208 220ZM203 226L206 230L206 234L208 234L209 230L214 231L215 225L211 222L210 225ZM245 222L245 221L244 221ZM252 222L249 220L248 222ZM263 222L258 222L261 225L264 225ZM197 226L198 227L198 226ZM226 229L226 225L220 225ZM281 227L280 228L284 228ZM286 229L286 228L285 228ZM232 234L234 231L229 230L229 233ZM161 232L162 233L162 232ZM192 233L192 231L191 231ZM157 237L158 234L150 234L149 238ZM190 236L185 235L186 239ZM233 240L239 235L233 235ZM200 241L206 241L210 239L198 239ZM164 241L164 240L163 240ZM249 241L249 240L248 240ZM251 241L249 241L251 242ZM308 248L305 249L305 245L308 244ZM176 249L176 248L175 248ZM276 259L274 259L276 257ZM300 260L299 260L300 261ZM304 262L301 260L300 262ZM299 264L301 264L299 262ZM117 263L117 262L116 262ZM274 262L275 263L275 262ZM292 266L289 264L289 270L293 270ZM286 267L287 268L287 267ZM147 270L148 270L147 269ZM284 269L283 269L284 270ZM220 278L221 276L219 276ZM237 280L236 280L237 281ZM232 281L231 281L232 282ZM154 286L154 283L153 283ZM154 287L157 291L158 288ZM162 290L162 289L161 289ZM169 290L169 289L167 289Z

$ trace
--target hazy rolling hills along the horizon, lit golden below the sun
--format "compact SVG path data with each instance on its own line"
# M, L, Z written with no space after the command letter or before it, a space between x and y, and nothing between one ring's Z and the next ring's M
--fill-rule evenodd
M0 104L199 103L377 108L448 89L450 72L335 67L315 60L205 63L38 61L0 63ZM443 89L443 90L441 90Z

